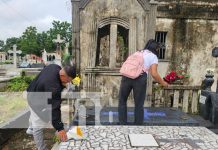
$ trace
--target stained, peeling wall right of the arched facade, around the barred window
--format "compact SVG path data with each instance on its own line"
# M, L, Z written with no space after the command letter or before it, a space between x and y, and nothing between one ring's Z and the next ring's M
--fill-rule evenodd
M212 49L218 46L218 1L158 0L156 31L167 31L167 58L170 64L181 61L190 73L190 84L200 85L207 68L216 67ZM166 63L166 62L165 62ZM162 65L163 75L169 66ZM218 68L217 68L218 69ZM214 79L217 78L217 73ZM212 89L215 90L216 82Z

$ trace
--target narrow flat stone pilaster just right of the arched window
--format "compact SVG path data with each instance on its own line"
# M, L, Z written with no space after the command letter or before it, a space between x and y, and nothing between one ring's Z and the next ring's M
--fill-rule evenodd
M129 31L129 54L136 51L136 37L137 37L137 19L136 17L130 18L130 31Z

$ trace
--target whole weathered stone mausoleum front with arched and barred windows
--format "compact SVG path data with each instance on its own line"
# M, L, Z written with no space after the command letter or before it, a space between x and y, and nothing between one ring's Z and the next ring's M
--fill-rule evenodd
M218 65L211 56L218 46L218 0L72 0L72 11L73 53L82 88L108 94L113 102L122 62L150 38L162 46L162 77L182 67L191 75L189 84L200 85L206 69ZM148 87L151 83L149 77ZM148 100L151 94L148 88Z

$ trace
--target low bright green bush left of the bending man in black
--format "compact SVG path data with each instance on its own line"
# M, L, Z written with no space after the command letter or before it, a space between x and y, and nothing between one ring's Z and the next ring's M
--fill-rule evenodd
M6 91L13 91L13 92L19 92L19 91L25 91L26 88L29 86L30 82L34 79L34 76L22 76L22 77L16 77L9 81Z

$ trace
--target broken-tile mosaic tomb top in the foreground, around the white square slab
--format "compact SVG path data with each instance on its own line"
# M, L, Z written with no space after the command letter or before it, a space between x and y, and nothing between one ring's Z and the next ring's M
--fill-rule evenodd
M218 135L204 127L178 126L87 126L86 141L61 143L59 150L218 150ZM128 134L152 134L160 147L131 147Z

